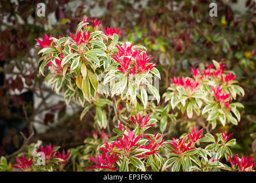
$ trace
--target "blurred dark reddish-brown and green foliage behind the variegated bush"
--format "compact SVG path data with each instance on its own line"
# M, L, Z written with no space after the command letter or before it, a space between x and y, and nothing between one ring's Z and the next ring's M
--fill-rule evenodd
M238 142L232 150L256 158L255 1L216 1L218 17L210 17L215 1L207 0L0 2L0 156L10 157L28 137L69 149L92 136L94 112L80 121L82 108L73 102L66 106L45 86L34 40L44 34L68 36L79 19L90 17L103 20L101 29L125 30L121 40L146 46L161 73L160 94L170 78L191 75L191 67L204 67L212 59L226 64L246 93L238 98L245 105L241 121L229 129ZM45 17L37 15L41 2Z

